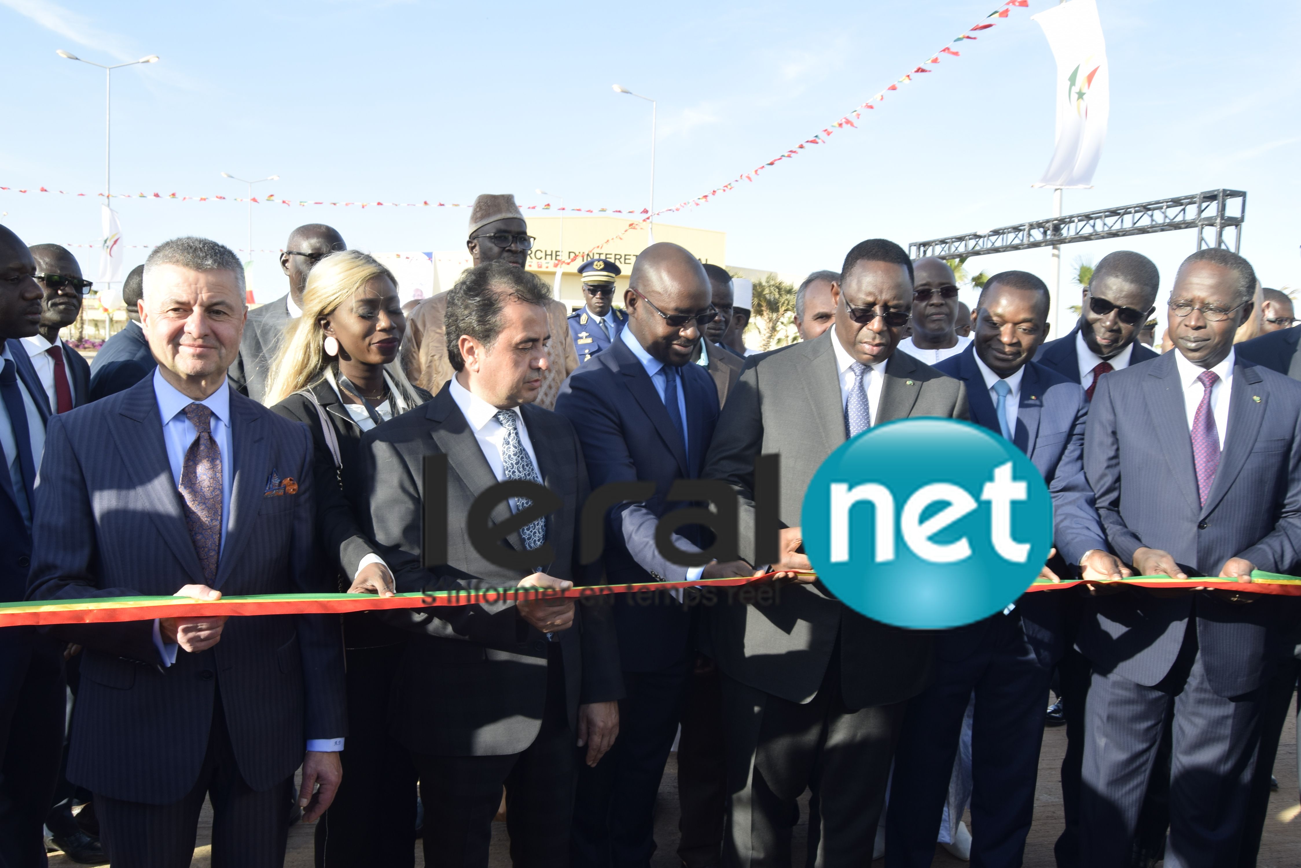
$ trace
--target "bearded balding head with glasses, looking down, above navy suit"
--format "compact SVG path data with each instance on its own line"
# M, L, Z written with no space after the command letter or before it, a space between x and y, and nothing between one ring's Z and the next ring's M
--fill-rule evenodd
M637 255L623 295L628 328L647 353L680 367L695 354L700 341L695 318L710 311L712 295L709 276L690 250L667 242L650 245ZM687 321L671 325L666 318Z

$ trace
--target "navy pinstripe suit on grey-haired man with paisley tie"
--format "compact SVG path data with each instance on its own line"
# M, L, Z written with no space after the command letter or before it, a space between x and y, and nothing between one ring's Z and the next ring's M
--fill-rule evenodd
M312 570L310 433L238 394L230 416L233 491L213 586L225 595L333 591ZM298 493L264 496L272 472L295 479ZM152 377L51 419L33 536L33 600L169 595L203 583ZM147 621L53 632L86 648L68 777L96 795L164 807L193 796L216 724L252 791L282 787L306 739L345 734L334 618L232 618L217 645L180 653L168 669ZM193 824L170 834L193 846ZM245 855L255 864L265 854Z

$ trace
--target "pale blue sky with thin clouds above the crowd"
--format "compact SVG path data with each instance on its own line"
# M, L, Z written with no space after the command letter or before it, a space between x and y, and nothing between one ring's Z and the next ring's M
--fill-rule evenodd
M782 272L837 268L857 241L907 243L1051 213L1030 183L1053 150L1054 62L1015 9L937 72L886 100L860 129L779 163L717 203L670 219L727 232L729 263ZM1301 4L1098 0L1111 61L1111 122L1094 189L1066 211L1215 187L1248 191L1242 254L1267 286L1301 286L1296 174ZM834 121L995 8L920 3L438 4L0 0L7 133L0 186L103 186L100 62L157 53L113 74L118 191L242 195L219 176L278 173L289 199L466 202L536 187L570 203L643 207L649 107L658 99L658 204L695 197ZM99 200L0 193L0 217L29 243L92 243ZM127 243L194 233L247 247L242 204L122 200ZM453 208L255 211L255 249L308 221L353 247L451 250ZM1072 245L1099 259L1129 247L1162 269L1189 232ZM94 251L78 249L87 271ZM129 250L129 264L144 250ZM282 292L264 254L260 295ZM1047 250L972 260L1049 276Z

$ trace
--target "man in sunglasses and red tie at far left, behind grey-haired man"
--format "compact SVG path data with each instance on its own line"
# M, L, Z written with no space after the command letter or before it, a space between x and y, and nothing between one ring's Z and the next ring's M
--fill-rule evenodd
M81 264L59 245L35 245L36 282L44 290L40 325L22 338L31 367L35 368L51 413L68 413L90 400L90 363L59 337L60 329L77 321L82 295L91 282L82 280Z

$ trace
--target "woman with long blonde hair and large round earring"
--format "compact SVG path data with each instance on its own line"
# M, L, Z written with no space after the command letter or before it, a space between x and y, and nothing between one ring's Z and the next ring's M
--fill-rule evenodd
M267 403L312 432L323 569L338 571L340 590L388 596L393 576L356 521L367 511L359 444L429 400L396 362L406 332L397 281L360 251L330 254L307 276L302 310L272 364ZM412 864L415 769L389 738L386 716L403 639L367 612L343 616L347 740L343 782L316 825L324 868Z

